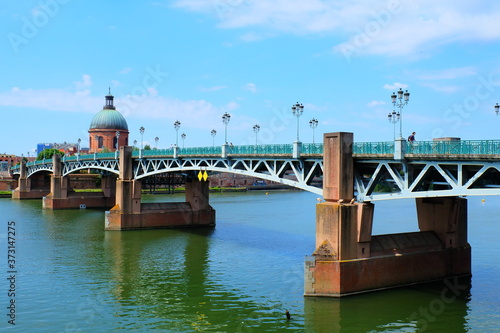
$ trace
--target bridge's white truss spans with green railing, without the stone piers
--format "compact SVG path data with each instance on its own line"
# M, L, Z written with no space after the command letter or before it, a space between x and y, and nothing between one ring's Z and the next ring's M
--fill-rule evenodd
M354 186L358 202L388 199L500 195L500 141L449 140L353 143ZM313 184L323 177L323 144L303 144L294 156L292 144L134 150L133 178L168 172L228 172L278 182L320 196ZM119 175L119 153L62 158L62 176L92 169ZM27 177L53 172L52 159L26 164ZM20 174L20 166L12 168ZM380 192L383 189L384 192ZM379 190L379 191L377 191Z

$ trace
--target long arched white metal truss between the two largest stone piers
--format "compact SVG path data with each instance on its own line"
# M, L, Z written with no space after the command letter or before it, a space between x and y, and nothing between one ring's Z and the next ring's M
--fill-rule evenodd
M312 185L315 177L323 175L323 158L257 158L257 157L184 157L139 159L134 163L134 178L141 179L163 172L184 171L229 172L266 179L296 187L318 195L321 187Z

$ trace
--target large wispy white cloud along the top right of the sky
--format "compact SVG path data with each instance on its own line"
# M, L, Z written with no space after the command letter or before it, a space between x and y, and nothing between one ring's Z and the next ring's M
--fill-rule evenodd
M426 56L453 42L500 39L500 3L490 0L177 0L174 7L215 16L219 27L269 33L333 34L335 52ZM249 33L244 39L266 36ZM267 35L269 36L269 35Z

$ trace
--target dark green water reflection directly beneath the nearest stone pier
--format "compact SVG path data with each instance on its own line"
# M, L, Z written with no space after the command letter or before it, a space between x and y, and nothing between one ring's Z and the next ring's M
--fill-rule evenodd
M467 332L470 278L346 298L305 299L307 332Z

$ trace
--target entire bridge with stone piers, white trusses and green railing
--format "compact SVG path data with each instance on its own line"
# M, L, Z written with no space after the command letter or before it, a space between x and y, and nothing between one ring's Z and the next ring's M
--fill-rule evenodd
M68 186L69 174L88 169L103 174L99 198L72 194ZM44 208L112 206L106 230L214 226L207 173L237 173L316 193L324 201L316 206L316 251L305 262L305 295L340 297L470 276L465 197L500 194L500 141L355 143L352 133L339 132L324 134L323 144L54 155L12 172L19 177L13 198L34 198L30 178L50 173ZM186 175L186 202L141 203L141 180L165 172ZM403 198L415 199L420 231L372 235L373 202Z

